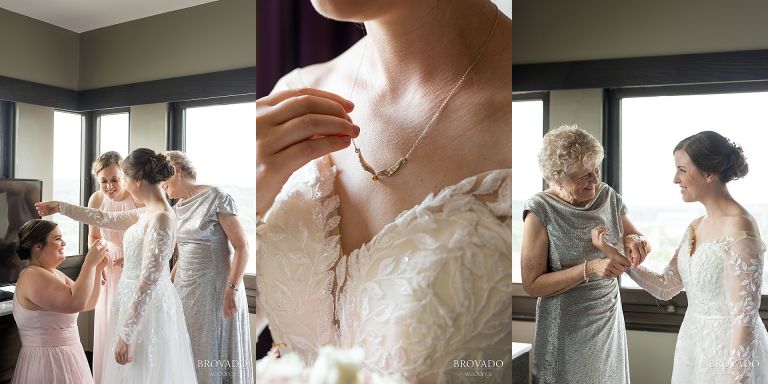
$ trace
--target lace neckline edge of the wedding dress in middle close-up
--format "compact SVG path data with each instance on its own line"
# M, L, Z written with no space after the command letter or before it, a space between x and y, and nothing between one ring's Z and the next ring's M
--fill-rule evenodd
M335 182L336 182L336 165L334 164L333 159L329 155L323 156L322 159L326 162L325 165L327 166L327 168L332 170L332 175L333 175L333 180L332 180L333 182L330 183L330 193L328 194L328 197L332 198L333 196L339 196L338 192L336 191L336 186L335 186ZM320 170L320 165L321 164L318 164L317 162L315 163L315 167L317 167L318 170ZM394 220L392 220L392 221L388 222L387 224L385 224L378 232L376 232L373 235L373 237L371 237L368 241L365 241L362 244L360 244L359 247L349 251L349 253L345 254L344 251L341 249L341 233L339 233L338 234L338 236L339 236L339 254L342 257L350 258L352 256L355 256L355 255L359 254L363 250L365 252L370 252L371 249L374 249L376 247L376 245L380 242L380 239L387 232L391 231L392 228L400 225L402 223L402 221L405 220L405 218L407 218L409 216L412 216L413 213L416 212L418 208L422 208L423 209L423 208L428 207L430 205L430 203L435 201L435 200L437 200L438 197L444 198L445 196L450 196L456 189L458 189L460 186L462 186L464 183L466 183L467 181L469 181L471 179L477 179L477 178L481 178L481 177L482 178L490 177L491 175L496 174L496 173L510 173L511 174L512 173L512 168L495 168L495 169L491 169L491 170L488 170L488 171L483 171L483 172L480 172L480 173L477 173L477 174L474 174L474 175L467 176L467 177L459 180L458 182L456 182L454 184L446 185L446 186L440 188L440 190L437 193L435 193L435 192L428 193L419 203L417 203L416 205L414 205L411 208L407 208L407 209L402 210L400 213L397 214L397 216L395 216ZM339 213L339 207L340 206L341 206L341 202L339 201L339 205L336 206L336 208L332 212L334 212L334 215L338 216L339 220L341 221L343 218L341 217L341 214ZM327 238L328 236L326 235L325 237Z

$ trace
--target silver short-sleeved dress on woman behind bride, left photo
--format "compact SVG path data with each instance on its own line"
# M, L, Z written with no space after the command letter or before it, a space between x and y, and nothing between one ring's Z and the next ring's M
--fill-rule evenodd
M233 251L217 214L237 214L235 201L211 187L174 206L179 260L174 284L192 341L200 383L252 383L248 303L241 283L237 313L224 319L224 288Z

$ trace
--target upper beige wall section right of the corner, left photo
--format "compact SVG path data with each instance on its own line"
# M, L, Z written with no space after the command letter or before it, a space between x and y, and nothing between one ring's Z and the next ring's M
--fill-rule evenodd
M219 0L81 35L80 89L256 65L256 0Z

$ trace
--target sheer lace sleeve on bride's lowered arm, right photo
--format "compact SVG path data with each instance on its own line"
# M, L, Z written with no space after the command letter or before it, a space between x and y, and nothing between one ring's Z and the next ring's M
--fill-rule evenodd
M756 237L743 237L728 247L725 289L731 308L731 378L734 383L754 383L751 377L755 325L759 324L760 288L765 246Z

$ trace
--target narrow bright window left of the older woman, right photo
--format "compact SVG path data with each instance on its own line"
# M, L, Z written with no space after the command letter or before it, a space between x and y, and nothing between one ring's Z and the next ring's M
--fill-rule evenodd
M517 97L516 97L517 98ZM541 191L537 160L544 136L544 100L512 102L512 282L521 283L523 204Z

